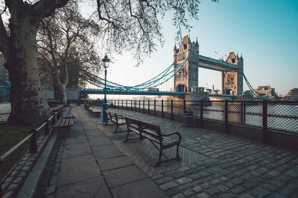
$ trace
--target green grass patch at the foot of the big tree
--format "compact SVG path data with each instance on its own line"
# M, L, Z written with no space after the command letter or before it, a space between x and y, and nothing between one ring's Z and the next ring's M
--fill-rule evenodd
M0 125L0 156L14 147L25 137L29 135L32 128L8 127L7 124ZM41 136L43 129L37 133L37 139ZM0 166L0 180L10 171L20 158L29 149L30 138L24 142L19 148L16 148L7 157L4 158L2 166Z

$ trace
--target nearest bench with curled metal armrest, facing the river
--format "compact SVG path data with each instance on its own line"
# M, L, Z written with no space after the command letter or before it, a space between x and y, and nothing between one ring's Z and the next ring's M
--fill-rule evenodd
M134 118L126 117L126 124L127 124L127 136L124 142L128 142L129 140L136 140L136 139L129 139L129 133L135 132L140 135L140 140L148 139L152 145L159 150L159 156L156 164L154 167L159 166L163 162L171 161L171 160L181 160L179 157L179 146L181 142L181 135L178 132L173 132L169 134L162 134L160 127L158 125L150 124L148 122L143 122L141 120L137 120ZM173 141L168 136L177 135L178 141ZM162 151L166 148L171 148L177 146L176 148L176 157L174 158L167 158ZM166 160L161 160L161 156L164 156Z

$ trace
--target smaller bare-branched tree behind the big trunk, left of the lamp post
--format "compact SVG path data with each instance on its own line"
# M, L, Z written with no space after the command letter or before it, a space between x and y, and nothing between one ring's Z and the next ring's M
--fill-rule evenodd
M99 73L101 60L95 42L100 32L92 19L81 16L77 0L42 21L37 34L38 62L45 77L51 74L54 99L67 103L66 86L70 86L70 77L78 83L80 69Z

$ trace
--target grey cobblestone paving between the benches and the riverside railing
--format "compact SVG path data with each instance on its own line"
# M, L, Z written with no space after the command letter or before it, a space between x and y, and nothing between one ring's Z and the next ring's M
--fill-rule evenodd
M101 107L97 107L101 108ZM161 127L163 133L177 131L181 146L210 159L151 179L173 198L298 198L298 152L253 142L151 115L113 109ZM101 118L91 119L101 124ZM110 136L121 139L125 134Z

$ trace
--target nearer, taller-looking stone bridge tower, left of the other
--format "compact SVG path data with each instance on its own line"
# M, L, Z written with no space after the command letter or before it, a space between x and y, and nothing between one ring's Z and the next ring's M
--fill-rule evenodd
M196 43L191 42L190 36L185 34L179 48L177 49L175 44L173 49L174 68L187 57L187 62L174 77L174 91L191 92L192 87L199 86L199 68L197 64L199 61L198 38Z

